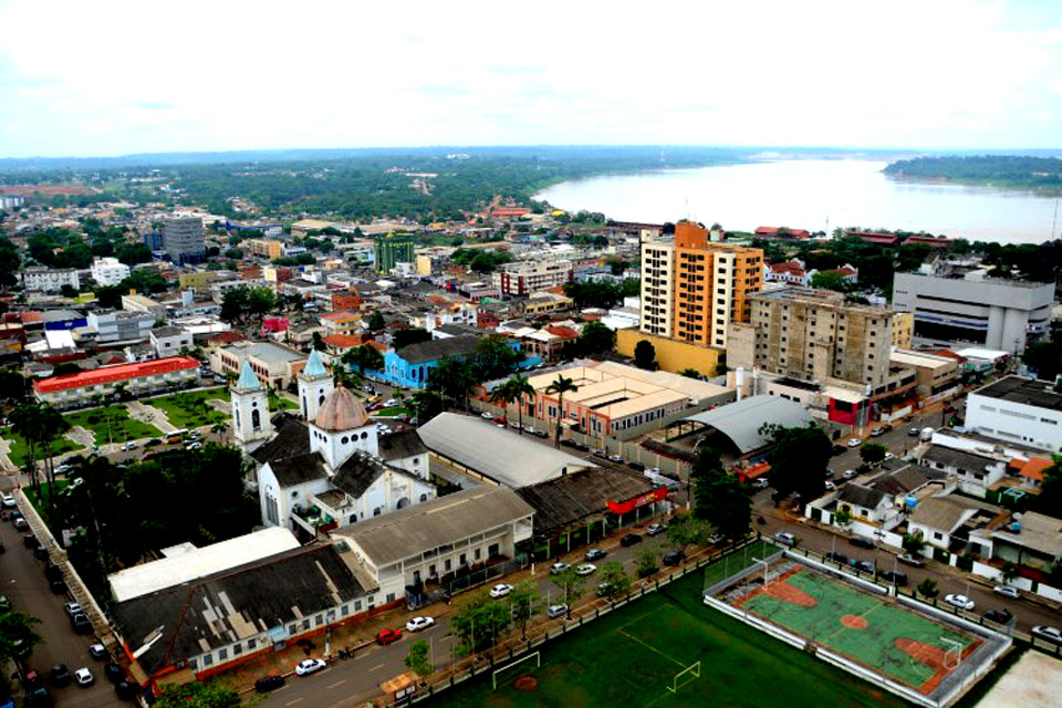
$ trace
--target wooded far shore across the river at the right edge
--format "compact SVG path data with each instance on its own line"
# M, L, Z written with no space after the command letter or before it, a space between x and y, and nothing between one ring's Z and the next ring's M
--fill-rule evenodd
M891 163L885 174L900 179L947 180L1020 189L1062 191L1062 159L1020 155L916 157Z

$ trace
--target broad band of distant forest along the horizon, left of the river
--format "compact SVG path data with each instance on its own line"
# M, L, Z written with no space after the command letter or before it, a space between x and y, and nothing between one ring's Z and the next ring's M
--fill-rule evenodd
M215 214L241 217L246 215L230 201L241 198L277 216L406 217L427 223L461 218L462 211L481 208L496 195L532 206L535 191L566 179L733 164L752 154L715 147L538 146L0 160L0 184L79 181L107 192L71 197L74 204L121 196L138 202L204 205ZM434 176L417 189L412 174ZM152 189L144 179L168 184L174 191Z

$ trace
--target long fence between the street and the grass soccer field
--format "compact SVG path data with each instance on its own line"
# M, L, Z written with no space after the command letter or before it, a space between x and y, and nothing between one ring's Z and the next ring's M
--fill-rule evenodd
M645 596L646 593L657 592L660 587L664 587L676 580L685 577L689 573L697 572L707 565L711 565L712 563L721 561L726 556L738 553L759 540L760 535L757 533L756 535L746 537L743 540L715 554L710 552L704 552L697 556L693 556L690 558L691 562L687 563L681 569L676 569L674 572L667 572L666 570L660 571L655 577L643 580L642 585L637 590L627 593L620 600L614 602L594 600L591 603L583 605L581 608L573 608L571 623L562 624L560 629L553 629L551 632L549 627L550 621L545 621L544 624L529 627L527 639L508 639L496 645L488 653L473 655L456 662L447 669L441 671L442 675L437 679L433 681L423 681L421 690L413 696L397 700L389 696L377 697L372 701L372 705L412 705L426 700L428 697L434 696L440 690L462 684L464 681L482 674L485 670L493 669L497 662L510 662L512 659L525 656L535 650L538 647L541 647L550 639L564 636L570 631L581 627L587 622L593 622L603 615L607 615L614 610L624 607L628 603Z

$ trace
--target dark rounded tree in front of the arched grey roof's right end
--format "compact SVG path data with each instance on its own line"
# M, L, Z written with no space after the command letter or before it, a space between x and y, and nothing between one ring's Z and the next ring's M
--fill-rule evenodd
M768 472L779 498L796 492L801 499L818 499L826 489L826 465L833 444L821 428L764 425L760 434L771 440Z

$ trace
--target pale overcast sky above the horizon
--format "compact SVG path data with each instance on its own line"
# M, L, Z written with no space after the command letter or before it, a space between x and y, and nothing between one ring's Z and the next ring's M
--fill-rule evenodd
M0 0L0 157L1062 147L1062 0Z

